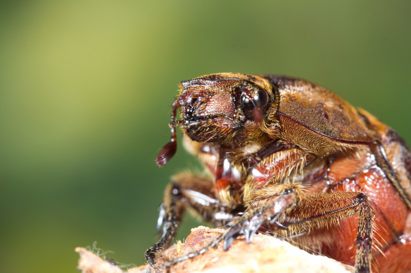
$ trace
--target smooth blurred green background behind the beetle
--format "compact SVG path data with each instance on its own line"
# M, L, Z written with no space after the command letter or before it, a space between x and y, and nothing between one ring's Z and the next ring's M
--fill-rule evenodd
M168 177L195 166L182 149L154 163L180 80L304 77L411 143L410 11L407 0L3 1L0 271L76 272L74 247L93 241L144 262Z

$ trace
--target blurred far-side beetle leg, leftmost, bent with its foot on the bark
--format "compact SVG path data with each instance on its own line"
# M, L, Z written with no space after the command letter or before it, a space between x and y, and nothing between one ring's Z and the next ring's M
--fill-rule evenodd
M175 175L167 186L160 205L157 229L163 226L161 236L145 252L145 258L151 266L154 267L156 263L155 253L167 246L174 237L181 215L187 207L201 214L204 220L214 223L225 223L233 217L230 209L215 198L212 180L191 173Z

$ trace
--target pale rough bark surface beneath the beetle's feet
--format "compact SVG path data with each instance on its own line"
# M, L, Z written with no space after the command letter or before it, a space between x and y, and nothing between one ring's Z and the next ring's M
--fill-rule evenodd
M221 228L199 226L191 230L185 243L177 242L159 255L158 262L188 254L207 245L223 232ZM85 248L77 247L80 253L78 268L83 273L122 273L113 265ZM228 251L220 243L206 253L195 258L184 260L170 268L172 272L352 272L353 268L321 255L313 255L290 243L265 234L257 234L252 243L244 238L234 241ZM166 270L154 269L148 264L129 268L128 273L163 273Z

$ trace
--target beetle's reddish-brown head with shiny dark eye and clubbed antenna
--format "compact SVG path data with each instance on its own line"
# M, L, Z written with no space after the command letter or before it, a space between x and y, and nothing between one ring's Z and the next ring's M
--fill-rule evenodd
M255 140L264 133L267 109L275 100L268 80L240 73L217 73L182 81L179 86L171 114L171 141L157 156L158 165L165 164L176 151L177 124L198 142L227 144ZM180 120L175 119L177 108Z

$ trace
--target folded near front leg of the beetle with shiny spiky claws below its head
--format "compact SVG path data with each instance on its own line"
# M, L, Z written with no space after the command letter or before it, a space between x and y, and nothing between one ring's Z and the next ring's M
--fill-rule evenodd
M224 249L228 249L242 234L247 242L251 242L264 222L273 224L283 212L294 207L301 199L300 185L280 181L314 159L313 155L300 148L282 148L254 164L244 186L247 211L224 235Z

